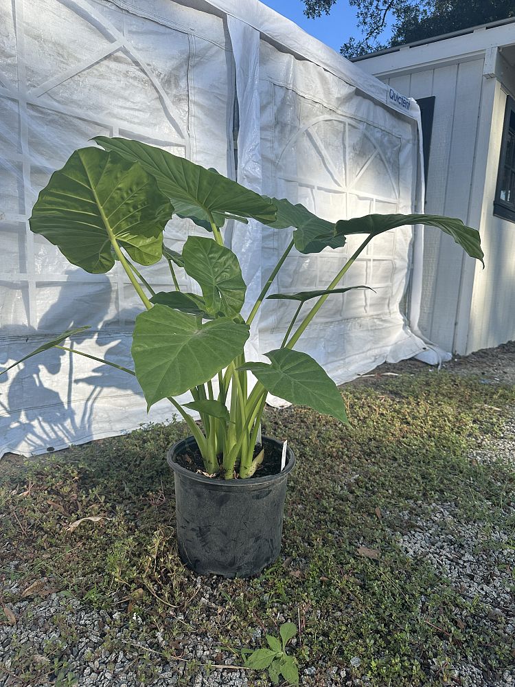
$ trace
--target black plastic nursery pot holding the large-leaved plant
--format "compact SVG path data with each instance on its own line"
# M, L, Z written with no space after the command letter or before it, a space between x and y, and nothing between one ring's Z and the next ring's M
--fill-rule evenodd
M265 450L282 451L262 438ZM284 497L295 455L286 449L286 466L276 475L221 480L187 470L176 458L196 451L192 436L168 451L175 476L177 539L183 563L201 575L250 577L271 565L281 550Z

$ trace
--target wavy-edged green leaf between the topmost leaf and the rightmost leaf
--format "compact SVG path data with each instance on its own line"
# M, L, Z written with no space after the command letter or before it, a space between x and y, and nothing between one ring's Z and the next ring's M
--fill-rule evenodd
M277 219L266 224L274 229L294 227L293 240L300 253L319 253L324 248L345 245L345 236L334 233L333 222L317 217L300 203L293 205L286 198L272 198L271 201L277 207Z

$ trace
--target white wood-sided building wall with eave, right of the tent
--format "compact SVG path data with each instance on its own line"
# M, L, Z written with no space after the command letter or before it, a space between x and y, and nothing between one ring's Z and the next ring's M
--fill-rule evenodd
M426 212L479 229L485 269L426 229L420 329L468 354L515 339L515 223L494 216L507 93L515 98L515 21L359 60L404 95L435 95Z

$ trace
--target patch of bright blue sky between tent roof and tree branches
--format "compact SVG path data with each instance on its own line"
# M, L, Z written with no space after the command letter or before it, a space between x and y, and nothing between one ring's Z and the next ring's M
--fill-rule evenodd
M295 21L304 31L318 38L325 45L330 45L336 52L340 52L341 45L349 36L356 36L356 38L361 36L361 32L356 29L356 12L349 6L347 0L338 0L336 5L333 5L330 15L322 14L319 19L308 19L303 12L306 5L302 0L261 1L279 14Z

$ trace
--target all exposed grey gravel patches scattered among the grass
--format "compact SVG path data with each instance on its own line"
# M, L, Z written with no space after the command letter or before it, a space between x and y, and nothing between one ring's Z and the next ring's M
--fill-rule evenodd
M416 374L421 363L404 361L400 365L382 365L377 374L367 377L362 383L375 383L381 374L400 372ZM501 346L494 352L479 352L468 359L456 359L446 363L446 369L458 374L482 374L485 383L515 383L515 344ZM503 460L507 465L515 464L515 420L505 425L503 436L491 440L485 438L483 445L474 450L470 460L478 464L489 464ZM488 622L501 629L501 635L510 641L515 634L515 603L513 596L513 571L515 570L514 530L499 527L499 515L513 517L512 503L503 506L502 513L492 508L492 513L474 521L464 515L463 508L453 503L413 502L413 508L398 514L405 527L401 533L391 532L402 550L411 559L423 560L432 565L441 576L469 601L479 600L488 607ZM497 506L499 509L499 506ZM16 565L16 561L12 562ZM214 607L211 599L216 598L214 581L198 578L198 595L207 606ZM253 687L258 684L247 679L246 671L227 668L236 657L220 653L212 638L207 636L179 635L174 646L175 660L168 660L155 644L149 646L141 627L141 619L135 614L127 624L122 613L93 609L69 594L56 593L51 587L40 586L34 594L22 594L16 583L8 583L3 595L17 597L10 603L16 623L0 626L0 661L3 661L5 675L0 675L2 687L43 687L56 684L58 687L79 685L84 687L152 687L191 685L192 687ZM23 598L25 596L25 598ZM460 619L457 619L459 624ZM259 640L260 630L255 629L254 640ZM159 634L158 634L159 642ZM52 664L52 646L56 655L65 649L67 664ZM112 647L116 647L113 652ZM123 650L119 646L124 646ZM146 657L146 675L141 673L141 656ZM207 662L211 667L197 668L191 674L188 667L192 660ZM354 659L353 659L354 660ZM359 665L359 658L353 664ZM514 659L515 662L515 659ZM18 675L21 666L47 664L49 682L23 682ZM352 661L351 661L352 664ZM440 668L435 666L435 672ZM149 674L148 671L151 671ZM324 687L365 686L367 679L354 679L345 670L336 672L328 669L324 675L317 673L315 666L303 666L301 684L323 685ZM515 667L506 670L492 682L485 682L481 666L464 663L450 666L455 684L462 687L515 687ZM265 683L260 683L265 684Z

